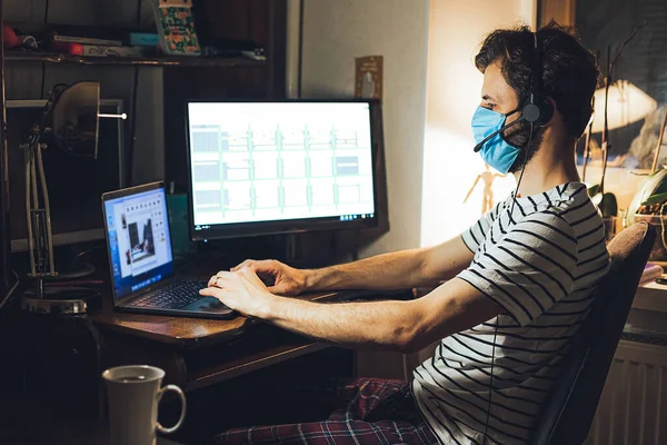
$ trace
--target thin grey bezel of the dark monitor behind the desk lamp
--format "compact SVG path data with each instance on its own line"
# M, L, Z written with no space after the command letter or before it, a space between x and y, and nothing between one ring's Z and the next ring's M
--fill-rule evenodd
M47 105L47 99L23 99L23 100L8 100L7 109L16 108L33 108L40 109ZM100 106L111 106L116 109L117 113L125 112L122 99L100 99ZM118 188L127 186L125 172L125 131L122 120L118 119ZM24 208L21 211L26 211ZM11 236L11 234L10 234ZM60 231L52 235L53 246L68 246L73 244L98 241L104 239L104 228L98 227L93 229L84 230L70 230ZM16 238L10 240L10 247L12 253L27 251L28 250L28 238Z

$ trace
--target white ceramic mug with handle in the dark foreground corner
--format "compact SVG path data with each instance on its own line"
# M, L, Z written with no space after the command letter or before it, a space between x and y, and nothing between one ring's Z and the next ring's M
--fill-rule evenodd
M102 373L109 400L109 433L113 445L152 445L156 429L176 432L186 417L186 396L176 385L160 388L165 372L147 365L109 368ZM158 422L158 402L172 390L180 397L181 415L176 425L166 428Z

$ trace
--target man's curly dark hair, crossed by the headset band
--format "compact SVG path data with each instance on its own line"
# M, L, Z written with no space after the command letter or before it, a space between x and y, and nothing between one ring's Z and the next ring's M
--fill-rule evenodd
M593 95L598 83L596 57L584 48L574 28L555 21L537 31L541 51L541 91L556 102L568 135L575 139L584 132L593 112ZM484 73L499 62L507 83L516 91L519 103L530 93L530 53L534 37L526 26L497 29L486 37L475 57Z

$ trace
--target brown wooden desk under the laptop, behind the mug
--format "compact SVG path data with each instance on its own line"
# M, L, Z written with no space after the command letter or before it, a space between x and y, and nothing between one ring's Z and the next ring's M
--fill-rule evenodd
M377 294L375 294L377 295ZM372 298L369 291L309 294L298 298L339 301ZM386 295L385 295L386 297ZM395 293L406 299L411 293ZM201 388L330 345L237 317L211 320L115 313L110 299L88 318L104 343L102 366L146 363L167 372L185 390Z

